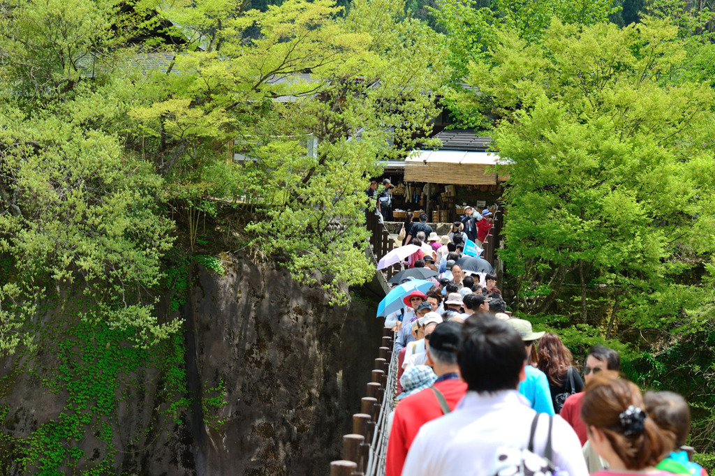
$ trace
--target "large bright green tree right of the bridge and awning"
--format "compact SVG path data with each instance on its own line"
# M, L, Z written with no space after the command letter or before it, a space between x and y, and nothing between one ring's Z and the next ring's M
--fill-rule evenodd
M491 61L470 68L488 98L475 104L501 117L495 147L513 161L510 272L542 309L576 277L582 322L586 288L616 287L607 337L616 317L623 329L683 330L705 317L689 305L701 293L670 283L715 251L715 94L682 78L684 57L666 21L554 21L540 44L502 34Z

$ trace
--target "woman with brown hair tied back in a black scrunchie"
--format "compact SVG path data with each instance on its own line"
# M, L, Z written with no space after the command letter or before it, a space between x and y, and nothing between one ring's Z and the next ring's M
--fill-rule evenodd
M600 375L591 379L581 418L588 428L591 447L609 467L591 476L671 474L654 466L673 446L672 437L661 432L644 408L641 390L633 382Z

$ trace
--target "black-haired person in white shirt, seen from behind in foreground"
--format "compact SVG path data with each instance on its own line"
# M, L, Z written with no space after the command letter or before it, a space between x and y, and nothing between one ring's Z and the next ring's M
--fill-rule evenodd
M463 324L460 375L468 392L453 412L426 423L410 446L403 475L490 476L501 448L526 448L536 412L516 390L526 377L526 349L506 322L475 314ZM541 415L533 439L544 455L548 417ZM553 417L552 462L570 476L588 476L581 442L566 421Z

